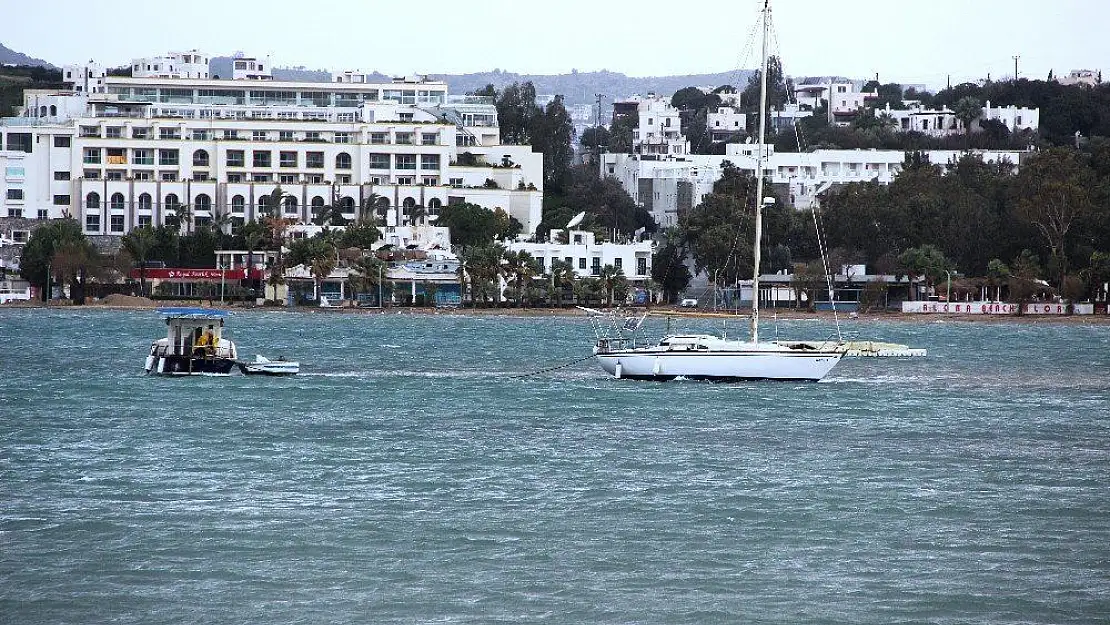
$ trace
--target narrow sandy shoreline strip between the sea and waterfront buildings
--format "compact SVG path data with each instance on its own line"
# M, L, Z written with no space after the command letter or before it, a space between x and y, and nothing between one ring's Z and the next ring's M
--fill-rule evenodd
M470 315L470 316L512 316L512 317L538 317L538 316L566 316L579 317L582 311L575 308L417 308L417 306L392 306L386 309L360 309L353 306L339 306L322 309L317 306L251 306L251 305L221 305L219 302L209 303L206 300L180 301L172 303L100 303L90 302L84 305L70 303L46 304L43 302L19 301L0 304L0 310L24 310L24 309L57 309L57 310L118 310L118 311L153 311L163 305L178 306L202 306L228 312L284 312L295 314L354 314L354 315ZM632 309L644 310L644 309ZM678 319L737 319L747 320L747 313L729 314L713 313L713 311L689 311L677 306L655 306L653 312L667 313ZM663 315L660 315L663 316ZM831 311L808 312L794 309L765 309L760 316L764 320L778 319L780 321L834 321ZM966 322L966 323L1050 323L1064 325L1110 325L1110 314L1088 314L1088 315L1016 315L1016 314L962 314L962 313L904 313L904 312L871 312L871 313L837 313L841 322L862 321L891 321L904 323L942 323L942 322Z

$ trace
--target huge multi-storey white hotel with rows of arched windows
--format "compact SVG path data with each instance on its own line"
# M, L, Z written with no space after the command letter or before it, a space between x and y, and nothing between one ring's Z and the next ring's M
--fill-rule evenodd
M182 56L174 71L194 73L185 65L199 63L184 61L203 56ZM543 155L502 145L493 103L448 95L443 82L124 78L95 68L91 84L90 72L67 71L73 90L29 91L22 115L0 120L0 216L72 215L90 235L171 215L186 215L185 228L223 214L243 223L281 187L282 214L301 223L333 202L354 219L372 200L387 233L412 225L414 212L434 222L455 202L504 209L528 233L541 221Z

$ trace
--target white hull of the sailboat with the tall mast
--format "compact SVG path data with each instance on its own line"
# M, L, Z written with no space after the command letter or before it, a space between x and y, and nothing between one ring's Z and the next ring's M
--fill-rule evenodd
M838 352L736 351L690 352L626 350L597 354L615 377L630 380L783 380L817 382L840 362Z

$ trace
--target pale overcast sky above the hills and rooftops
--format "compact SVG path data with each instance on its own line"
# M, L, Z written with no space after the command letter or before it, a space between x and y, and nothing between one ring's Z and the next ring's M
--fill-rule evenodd
M759 0L0 0L0 42L54 64L200 49L278 65L386 74L607 69L629 75L755 65ZM1107 0L776 0L786 72L942 87L1110 69ZM746 53L745 53L746 52Z

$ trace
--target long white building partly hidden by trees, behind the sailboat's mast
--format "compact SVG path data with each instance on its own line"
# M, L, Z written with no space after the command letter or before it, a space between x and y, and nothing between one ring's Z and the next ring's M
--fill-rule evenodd
M675 225L678 215L698 205L722 174L725 161L749 172L756 169L757 147L729 144L725 155L688 154L674 159L645 159L636 154L604 154L602 173L617 179L633 200L648 209L662 228ZM834 184L876 181L889 184L901 171L901 150L815 150L775 152L767 144L764 175L788 195L799 210L809 209L818 195ZM988 162L1020 165L1028 152L973 150ZM931 150L929 161L947 169L963 154L956 150Z

